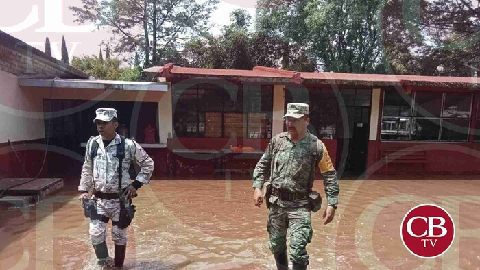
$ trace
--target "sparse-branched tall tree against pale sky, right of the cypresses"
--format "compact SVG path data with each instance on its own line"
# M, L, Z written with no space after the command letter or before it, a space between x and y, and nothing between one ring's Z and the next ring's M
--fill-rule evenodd
M157 51L204 34L218 1L82 0L81 8L70 9L79 23L111 29L115 52L133 53L139 48L146 67L162 64L157 62Z

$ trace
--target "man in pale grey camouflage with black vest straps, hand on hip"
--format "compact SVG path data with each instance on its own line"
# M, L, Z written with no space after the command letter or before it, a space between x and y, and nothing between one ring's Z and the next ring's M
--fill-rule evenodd
M127 244L126 227L130 225L135 211L131 198L136 197L136 191L143 184L149 183L154 162L138 143L115 132L119 126L117 110L99 108L93 122L97 125L99 136L91 137L86 144L78 198L83 203L85 216L91 219L90 238L101 265L108 262L106 225L112 219L115 266L121 267ZM141 168L133 182L128 173L132 162ZM93 196L88 199L91 188Z

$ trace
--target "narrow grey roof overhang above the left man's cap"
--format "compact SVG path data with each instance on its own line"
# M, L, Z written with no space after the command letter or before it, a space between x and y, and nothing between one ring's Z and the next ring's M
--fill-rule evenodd
M19 79L19 86L38 88L80 88L95 90L130 90L167 92L169 82L125 82L82 79Z

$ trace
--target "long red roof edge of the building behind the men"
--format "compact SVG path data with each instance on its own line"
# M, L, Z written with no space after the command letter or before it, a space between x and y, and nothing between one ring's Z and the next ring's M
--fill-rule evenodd
M252 70L200 69L174 66L152 66L143 73L164 77L170 82L182 79L232 79L241 82L270 82L272 84L325 85L341 87L401 86L407 90L416 88L479 90L477 77L439 77L394 74L355 74L334 72L296 72L255 66Z

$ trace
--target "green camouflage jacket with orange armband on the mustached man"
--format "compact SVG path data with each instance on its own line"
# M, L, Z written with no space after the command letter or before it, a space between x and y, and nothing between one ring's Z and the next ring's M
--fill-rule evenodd
M313 145L312 145L313 144ZM312 155L312 149L317 149L317 155ZM314 159L314 160L312 160ZM269 182L274 188L289 193L309 191L313 185L315 168L320 169L324 180L326 202L328 206L338 203L339 183L337 171L333 167L328 151L321 140L312 134L293 143L288 132L278 134L270 140L265 153L256 164L253 177L253 187L262 188L270 175ZM282 201L276 196L270 197L270 202L279 206L299 207L308 204L307 199Z

